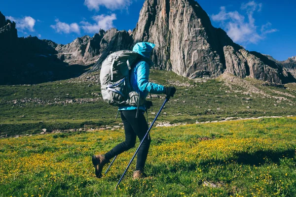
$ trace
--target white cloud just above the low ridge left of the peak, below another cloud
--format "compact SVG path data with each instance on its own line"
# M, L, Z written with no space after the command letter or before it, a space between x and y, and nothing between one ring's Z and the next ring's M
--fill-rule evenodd
M100 29L109 30L114 27L113 21L116 20L116 15L97 15L93 16L93 20L96 21L95 24L89 22L81 22L82 29L87 33L97 33Z

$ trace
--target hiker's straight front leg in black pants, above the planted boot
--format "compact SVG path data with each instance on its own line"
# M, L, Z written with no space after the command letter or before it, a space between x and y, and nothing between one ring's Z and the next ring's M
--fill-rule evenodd
M129 125L133 129L133 131L137 134L140 141L143 140L145 134L148 131L147 121L145 119L144 113L139 111L139 117L136 118L136 110L133 111L122 111L122 115L128 121ZM136 170L144 170L144 166L146 163L149 146L150 146L150 138L147 136L143 141L141 148L137 154L137 165Z

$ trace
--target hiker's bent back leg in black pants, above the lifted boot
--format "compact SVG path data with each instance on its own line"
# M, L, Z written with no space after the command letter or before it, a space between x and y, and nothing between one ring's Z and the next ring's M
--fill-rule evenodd
M110 160L111 158L115 157L116 155L119 155L120 153L123 153L124 151L127 151L135 146L136 143L136 133L134 132L131 124L129 121L125 118L125 116L122 113L123 111L120 111L120 116L124 125L124 132L125 132L125 141L121 142L120 144L116 145L111 151L105 154L105 158L107 160Z

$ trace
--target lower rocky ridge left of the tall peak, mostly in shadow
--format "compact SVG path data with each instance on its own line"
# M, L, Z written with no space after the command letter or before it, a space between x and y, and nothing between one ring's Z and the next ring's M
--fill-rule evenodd
M131 48L126 31L101 30L62 45L36 36L17 37L16 24L0 13L0 84L32 84L81 75L110 51Z

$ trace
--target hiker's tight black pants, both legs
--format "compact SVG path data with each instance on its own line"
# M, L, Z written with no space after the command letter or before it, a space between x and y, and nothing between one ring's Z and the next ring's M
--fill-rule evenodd
M110 160L111 158L133 148L136 144L136 137L143 140L145 134L148 131L147 121L144 116L144 112L139 111L139 117L136 118L137 110L120 111L121 119L124 125L125 141L116 145L111 151L105 154L105 158ZM150 137L146 137L139 152L137 154L136 170L143 170L146 163L148 150L150 146Z

